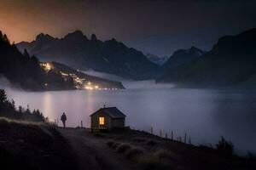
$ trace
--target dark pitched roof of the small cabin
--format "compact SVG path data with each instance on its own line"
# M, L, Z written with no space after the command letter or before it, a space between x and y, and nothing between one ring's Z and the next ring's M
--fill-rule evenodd
M107 114L108 116L112 118L124 118L125 114L122 113L121 111L118 110L116 107L106 107L106 108L101 108L100 110L94 112L90 116L95 115L96 113L102 113L102 114Z

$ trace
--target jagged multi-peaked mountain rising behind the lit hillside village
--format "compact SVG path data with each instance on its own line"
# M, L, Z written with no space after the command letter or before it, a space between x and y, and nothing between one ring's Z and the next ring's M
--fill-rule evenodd
M54 60L79 70L93 69L135 80L155 78L160 66L134 48L128 48L115 39L102 42L82 31L74 31L59 39L39 34L33 42L16 44L20 50L27 49L42 60Z

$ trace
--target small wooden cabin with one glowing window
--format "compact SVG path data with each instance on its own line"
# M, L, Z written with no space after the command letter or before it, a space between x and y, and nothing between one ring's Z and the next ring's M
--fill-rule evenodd
M125 114L116 107L104 107L90 115L90 127L92 130L113 130L125 127Z

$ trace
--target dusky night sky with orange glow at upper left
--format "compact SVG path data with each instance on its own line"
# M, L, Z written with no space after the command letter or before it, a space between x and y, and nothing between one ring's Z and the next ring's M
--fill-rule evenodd
M254 0L0 0L0 30L11 41L40 32L81 30L116 38L145 54L171 55L192 45L208 50L218 37L256 27Z

